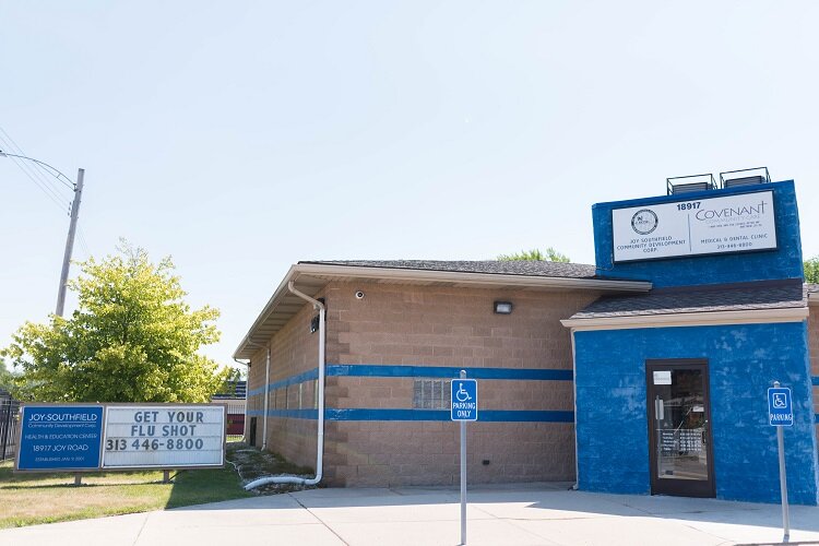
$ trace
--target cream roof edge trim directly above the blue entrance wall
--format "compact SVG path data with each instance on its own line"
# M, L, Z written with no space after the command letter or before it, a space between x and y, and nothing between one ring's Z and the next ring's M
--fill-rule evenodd
M753 309L743 311L701 311L675 314L638 314L630 317L563 319L560 323L566 328L570 328L572 332L582 332L585 330L631 330L637 328L802 322L807 318L807 307L788 307L783 309Z

